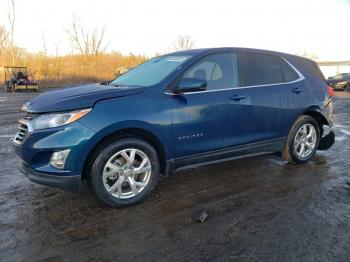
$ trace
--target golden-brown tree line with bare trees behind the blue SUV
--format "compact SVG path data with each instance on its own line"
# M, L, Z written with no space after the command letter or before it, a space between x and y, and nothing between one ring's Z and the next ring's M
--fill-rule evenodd
M106 28L89 30L76 15L72 16L70 26L64 30L71 44L70 54L61 54L58 46L55 47L54 54L48 54L45 35L42 37L41 51L28 52L15 44L15 0L9 3L8 25L0 25L1 79L4 78L3 66L26 66L29 76L42 87L99 82L114 79L125 69L148 59L144 55L106 52ZM185 50L192 47L191 37L180 35L174 40L171 49Z

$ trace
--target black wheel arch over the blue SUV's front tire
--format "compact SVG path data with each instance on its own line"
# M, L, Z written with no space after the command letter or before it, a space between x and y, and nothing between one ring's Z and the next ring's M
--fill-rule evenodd
M161 141L157 138L156 135L154 135L148 130L145 130L143 128L131 127L131 128L121 128L119 130L116 130L104 136L94 145L94 147L90 150L88 156L84 161L82 179L86 178L88 170L91 169L93 159L108 143L118 139L130 138L130 137L142 139L154 147L159 157L160 172L165 173L167 157L166 157L165 148L161 143Z

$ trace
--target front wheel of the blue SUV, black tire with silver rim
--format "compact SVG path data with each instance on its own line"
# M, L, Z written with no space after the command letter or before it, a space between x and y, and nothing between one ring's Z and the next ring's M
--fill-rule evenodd
M98 199L112 207L143 201L154 190L159 176L155 149L138 138L112 142L95 158L88 183Z

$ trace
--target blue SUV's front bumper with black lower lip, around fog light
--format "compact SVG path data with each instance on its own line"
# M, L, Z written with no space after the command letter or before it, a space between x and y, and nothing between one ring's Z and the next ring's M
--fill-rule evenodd
M78 121L67 126L28 132L22 143L15 143L20 157L19 169L31 181L79 192L85 159L90 151L88 142L94 132ZM50 164L54 152L69 149L64 168Z

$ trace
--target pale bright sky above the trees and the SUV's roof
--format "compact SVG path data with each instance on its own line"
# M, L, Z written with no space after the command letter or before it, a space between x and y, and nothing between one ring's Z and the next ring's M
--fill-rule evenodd
M178 35L194 48L237 46L315 53L319 60L350 60L350 0L15 0L15 43L32 52L56 46L71 52L64 29L72 15L86 28L106 28L107 51L171 51ZM9 0L0 0L8 27Z

